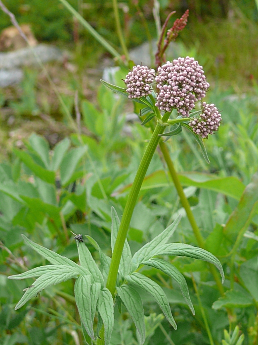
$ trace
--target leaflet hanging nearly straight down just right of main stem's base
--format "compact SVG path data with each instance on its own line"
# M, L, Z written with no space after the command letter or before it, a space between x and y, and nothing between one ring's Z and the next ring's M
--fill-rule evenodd
M125 304L140 336L140 344L145 342L145 323L142 300L139 293L129 285L117 287L117 292Z

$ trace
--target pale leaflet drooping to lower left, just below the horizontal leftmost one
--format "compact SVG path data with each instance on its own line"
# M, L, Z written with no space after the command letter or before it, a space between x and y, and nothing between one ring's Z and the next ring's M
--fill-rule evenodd
M19 302L15 306L15 310L22 307L29 299L32 297L35 297L35 295L43 290L43 288L47 288L50 285L56 285L58 283L67 281L68 279L71 279L75 276L77 276L77 272L66 272L63 270L55 270L55 271L49 271L48 273L43 274L43 276L36 279L36 281L33 283L32 288L28 288L27 291L25 291L22 298L19 300Z

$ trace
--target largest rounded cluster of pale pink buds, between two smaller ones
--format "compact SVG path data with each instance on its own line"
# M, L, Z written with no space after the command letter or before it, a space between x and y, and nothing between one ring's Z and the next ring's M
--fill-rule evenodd
M178 58L158 68L157 88L160 90L156 106L171 112L173 108L182 117L189 116L197 101L205 97L210 84L203 67L194 58Z

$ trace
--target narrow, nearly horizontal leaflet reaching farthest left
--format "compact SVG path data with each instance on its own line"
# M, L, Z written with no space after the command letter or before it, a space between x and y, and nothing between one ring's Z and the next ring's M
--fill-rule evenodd
M39 277L43 274L47 274L49 272L53 271L60 271L63 270L64 272L74 272L76 273L74 267L67 266L67 265L46 265L46 266L40 266L35 267L32 270L29 270L27 272L23 272L20 274L15 274L13 276L9 276L9 279L27 279L27 278L33 278L33 277ZM77 273L79 275L79 273Z

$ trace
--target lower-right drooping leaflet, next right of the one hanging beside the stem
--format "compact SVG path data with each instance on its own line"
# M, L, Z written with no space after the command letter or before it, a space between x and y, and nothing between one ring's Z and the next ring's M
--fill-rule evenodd
M170 304L163 289L153 280L137 272L132 273L130 276L127 276L126 280L129 282L129 284L132 284L134 287L142 288L144 291L150 293L161 307L169 323L176 330L177 327L171 313Z

